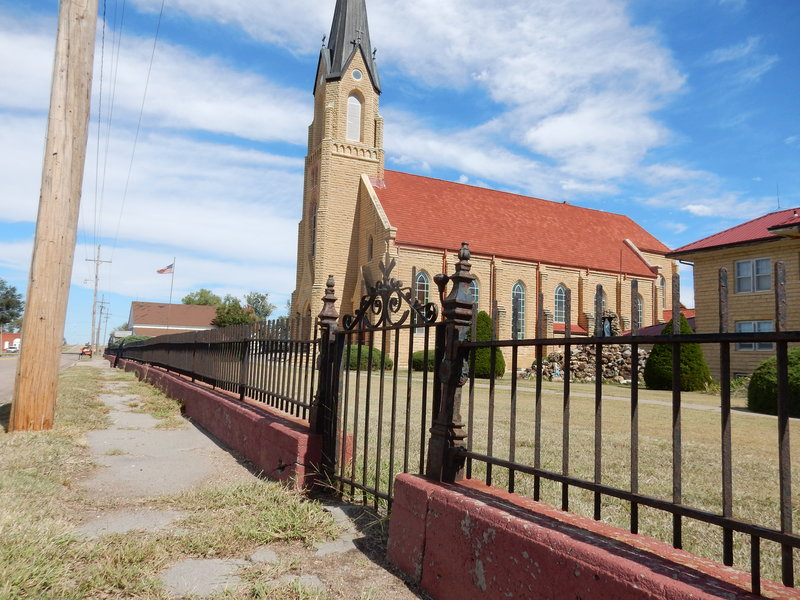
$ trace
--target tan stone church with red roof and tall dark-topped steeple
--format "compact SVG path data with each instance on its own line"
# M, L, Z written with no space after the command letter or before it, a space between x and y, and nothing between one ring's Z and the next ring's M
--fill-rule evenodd
M466 241L473 294L480 310L494 309L500 339L535 336L540 292L542 333L558 336L569 322L573 335L593 334L598 284L623 331L632 308L642 327L664 320L669 248L623 215L386 170L381 91L365 0L337 0L314 82L293 315L320 312L329 274L340 314L354 312L362 273L380 273L387 252L392 276L433 300L434 276L452 270Z

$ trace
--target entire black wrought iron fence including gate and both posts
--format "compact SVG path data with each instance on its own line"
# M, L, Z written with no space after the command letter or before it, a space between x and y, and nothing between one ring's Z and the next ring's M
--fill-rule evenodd
M368 286L353 315L339 317L328 281L313 335L308 322L279 320L154 338L122 353L308 420L322 435L321 475L328 485L376 508L391 505L398 473L445 482L480 479L749 570L756 594L762 577L794 587L800 470L792 463L790 437L792 430L795 439L800 435L800 422L789 418L798 399L790 394L788 350L800 343L800 331L786 327L783 265L777 263L773 275L774 332L729 333L722 270L715 334L640 336L639 317L632 314L630 335L604 336L605 307L598 301L594 336L573 337L566 323L564 337L537 332L533 339L476 341L469 258L464 245L455 272L435 278L441 315L435 304L422 303L418 290L391 278L394 261L387 257L382 279ZM636 292L634 282L631 306ZM565 301L570 314L569 293ZM540 297L540 311L543 304ZM672 307L677 322L677 276ZM543 322L540 312L537 323ZM604 385L600 360L594 383L573 382L568 359L563 382L545 381L547 349L563 348L569 357L589 346L599 358L606 346L630 346L631 372L638 373L638 347L654 343L671 348L671 391L645 390L636 377L628 388ZM680 356L687 344L719 351L718 395L685 401ZM775 416L755 415L734 402L736 344L772 345ZM424 366L414 371L420 351ZM520 356L531 351L533 377L518 379L530 366L520 364ZM503 353L510 377L476 378L478 354L487 352L489 373Z

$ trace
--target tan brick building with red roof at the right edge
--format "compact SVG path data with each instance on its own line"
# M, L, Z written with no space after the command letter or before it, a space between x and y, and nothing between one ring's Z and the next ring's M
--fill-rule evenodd
M800 208L769 213L687 244L670 257L694 265L695 327L698 333L719 331L719 270L728 270L728 330L775 330L773 269L786 265L786 294L800 303ZM800 312L788 315L789 329L800 329ZM719 348L703 348L711 374L720 376ZM749 375L775 353L773 344L740 343L731 349L731 375Z

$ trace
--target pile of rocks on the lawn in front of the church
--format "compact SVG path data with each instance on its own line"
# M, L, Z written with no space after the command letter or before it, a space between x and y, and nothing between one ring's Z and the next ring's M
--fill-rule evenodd
M570 358L571 381L589 382L595 380L595 346L573 346ZM639 349L639 377L644 372L644 363L649 352ZM631 376L631 347L630 346L603 346L600 356L603 367L603 380L623 383L630 381ZM530 378L535 376L535 369L525 369L520 377ZM564 352L551 352L542 363L542 374L549 381L563 381L564 379Z

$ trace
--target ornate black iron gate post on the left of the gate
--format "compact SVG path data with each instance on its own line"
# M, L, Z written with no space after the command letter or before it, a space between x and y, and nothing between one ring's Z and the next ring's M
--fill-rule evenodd
M322 464L320 470L323 475L332 477L336 469L336 421L339 405L339 371L341 350L339 346L343 340L338 336L337 321L339 313L336 312L336 292L333 275L328 276L325 296L322 298L322 311L319 313L319 384L317 396L311 406L309 422L311 430L322 436Z

